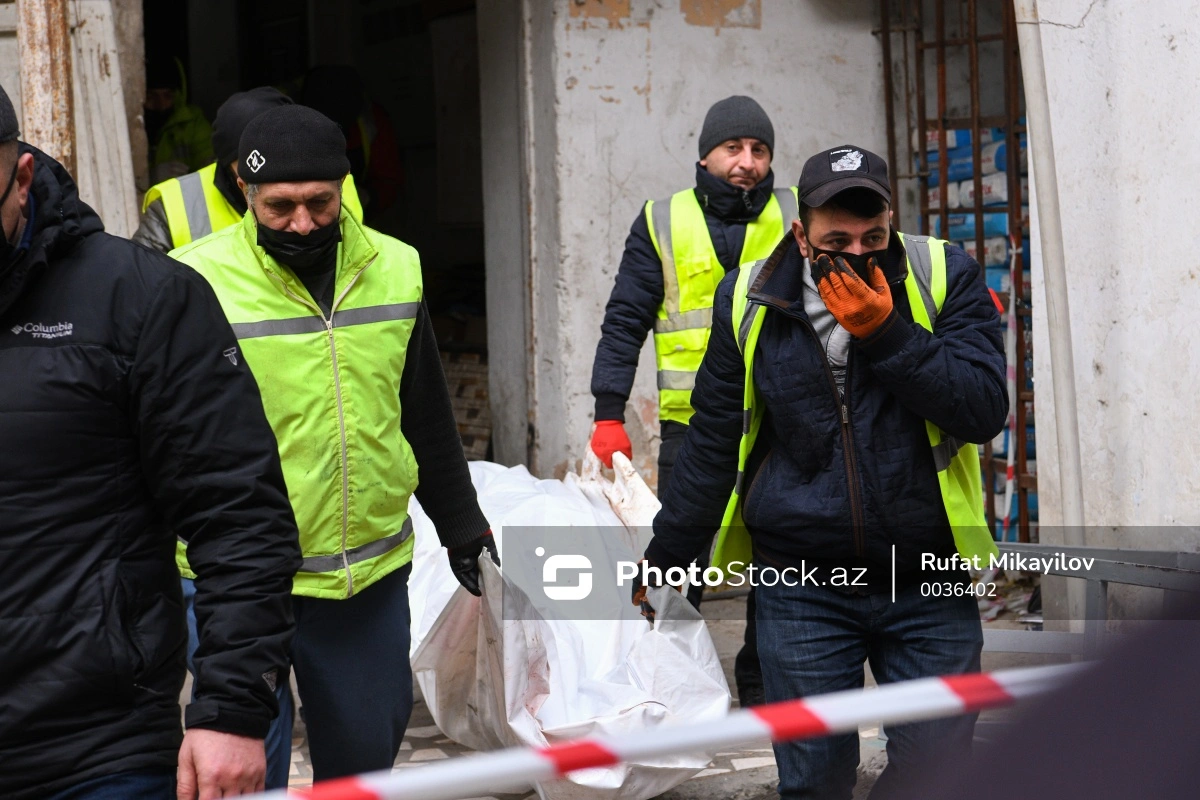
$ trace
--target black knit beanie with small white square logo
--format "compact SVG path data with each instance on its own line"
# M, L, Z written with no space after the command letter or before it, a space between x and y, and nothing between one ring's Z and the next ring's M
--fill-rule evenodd
M332 181L349 172L342 130L307 106L263 112L238 145L238 176L247 184Z

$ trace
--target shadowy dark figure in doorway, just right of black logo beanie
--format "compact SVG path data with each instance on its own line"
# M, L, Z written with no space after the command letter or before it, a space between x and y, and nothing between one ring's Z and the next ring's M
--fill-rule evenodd
M313 67L305 74L300 102L342 128L367 218L376 219L395 205L404 186L396 128L383 106L367 97L358 70L346 64Z

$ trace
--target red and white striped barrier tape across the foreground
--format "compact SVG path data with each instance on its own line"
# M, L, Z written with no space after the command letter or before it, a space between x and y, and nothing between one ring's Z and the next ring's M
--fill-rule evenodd
M612 766L678 753L715 752L750 742L815 739L858 730L862 724L898 724L973 714L1009 705L1055 688L1080 664L1031 667L990 674L925 678L874 691L821 694L734 711L694 726L653 728L620 739L596 736L540 748L512 748L466 756L416 770L391 770L317 783L300 796L313 800L456 800L575 770ZM295 798L284 790L260 800Z

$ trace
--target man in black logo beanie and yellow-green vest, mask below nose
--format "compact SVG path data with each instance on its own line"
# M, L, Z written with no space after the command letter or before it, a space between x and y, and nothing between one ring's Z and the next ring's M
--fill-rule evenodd
M416 251L346 211L349 169L332 120L274 108L239 145L250 212L173 252L216 290L278 439L305 557L292 660L317 781L390 769L408 726L409 498L467 591L480 594L485 549L498 563ZM290 723L281 712L284 740Z

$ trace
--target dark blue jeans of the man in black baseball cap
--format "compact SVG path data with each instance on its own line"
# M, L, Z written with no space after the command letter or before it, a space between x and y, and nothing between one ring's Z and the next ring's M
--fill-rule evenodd
M974 597L847 595L824 587L757 588L758 657L767 702L862 688L863 662L880 684L979 670L983 628ZM887 728L888 765L871 790L887 798L919 764L961 764L976 717ZM775 745L781 800L850 800L858 770L857 733Z

